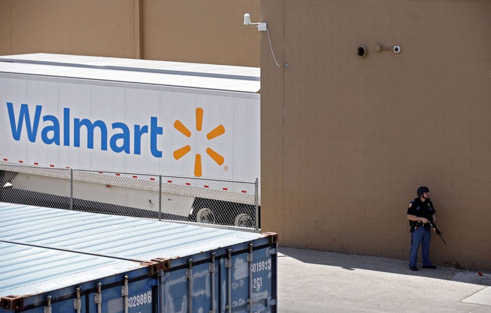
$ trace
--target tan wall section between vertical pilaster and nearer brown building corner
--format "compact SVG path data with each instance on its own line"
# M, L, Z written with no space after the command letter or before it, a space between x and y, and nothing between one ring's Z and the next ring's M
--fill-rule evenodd
M144 0L147 59L259 66L259 0Z

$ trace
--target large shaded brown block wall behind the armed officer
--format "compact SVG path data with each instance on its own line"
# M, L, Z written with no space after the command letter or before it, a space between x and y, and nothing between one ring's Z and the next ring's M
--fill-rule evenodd
M427 185L448 243L433 236L433 261L491 269L491 1L262 0L261 16L289 64L263 34L263 230L407 259Z

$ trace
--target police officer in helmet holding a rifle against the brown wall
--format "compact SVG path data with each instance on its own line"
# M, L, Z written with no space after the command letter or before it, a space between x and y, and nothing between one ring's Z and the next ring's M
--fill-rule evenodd
M411 250L409 254L409 268L418 270L418 249L422 244L423 268L437 268L430 261L431 230L429 218L435 221L435 209L430 201L430 189L421 186L416 191L418 198L411 200L407 208L407 219L411 226ZM433 229L435 231L435 229Z

